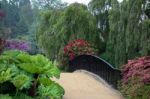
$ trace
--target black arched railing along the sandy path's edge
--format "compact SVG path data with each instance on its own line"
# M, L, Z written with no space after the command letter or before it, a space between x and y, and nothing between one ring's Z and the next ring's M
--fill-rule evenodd
M114 88L117 88L118 81L121 79L120 70L94 55L80 55L69 62L69 72L79 69L97 74Z

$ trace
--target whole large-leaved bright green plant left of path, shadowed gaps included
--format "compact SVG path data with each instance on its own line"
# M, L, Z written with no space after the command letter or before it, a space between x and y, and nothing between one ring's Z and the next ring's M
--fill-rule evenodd
M42 55L10 50L0 56L0 97L9 99L61 99L64 89L50 78L59 69Z

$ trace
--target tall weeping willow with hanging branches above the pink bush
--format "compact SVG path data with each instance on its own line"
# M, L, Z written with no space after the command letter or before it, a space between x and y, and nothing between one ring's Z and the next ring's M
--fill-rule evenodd
M144 13L147 0L112 0L107 42L108 60L120 67L129 59L150 55L150 19Z

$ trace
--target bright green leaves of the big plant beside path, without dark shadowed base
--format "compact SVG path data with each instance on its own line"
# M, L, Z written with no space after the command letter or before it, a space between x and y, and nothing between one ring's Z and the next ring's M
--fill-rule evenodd
M29 89L32 81L37 80L38 85L40 85L38 87L40 96L36 97L37 99L45 99L47 97L60 99L64 95L64 89L56 82L50 80L50 77L53 76L59 78L59 69L43 55L29 55L21 51L7 51L0 56L0 66L0 84L10 81L20 91ZM37 79L34 78L35 74L38 74Z

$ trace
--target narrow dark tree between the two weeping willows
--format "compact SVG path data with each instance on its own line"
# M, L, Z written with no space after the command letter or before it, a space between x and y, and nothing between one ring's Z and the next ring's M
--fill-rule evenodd
M109 10L111 0L91 0L88 4L90 11L96 18L98 32L101 36L100 53L105 52L109 35Z

